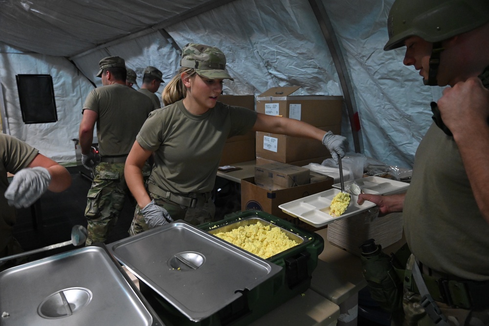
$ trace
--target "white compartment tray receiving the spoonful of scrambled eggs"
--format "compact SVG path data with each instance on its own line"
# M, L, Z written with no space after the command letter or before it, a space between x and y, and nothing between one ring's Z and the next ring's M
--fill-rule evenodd
M279 208L285 213L299 218L301 221L311 224L316 228L320 228L331 222L344 218L353 214L358 214L364 210L368 210L375 206L374 203L365 201L362 205L356 203L358 196L351 195L350 205L346 211L340 216L331 216L328 214L331 201L334 196L341 190L333 188L326 191L316 193L301 199L296 199L291 202L279 205Z

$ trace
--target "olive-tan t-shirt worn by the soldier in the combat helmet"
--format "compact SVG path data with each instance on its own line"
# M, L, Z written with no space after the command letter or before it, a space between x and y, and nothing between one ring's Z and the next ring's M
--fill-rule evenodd
M489 279L489 223L457 144L435 124L416 151L402 217L409 248L423 264L464 279Z

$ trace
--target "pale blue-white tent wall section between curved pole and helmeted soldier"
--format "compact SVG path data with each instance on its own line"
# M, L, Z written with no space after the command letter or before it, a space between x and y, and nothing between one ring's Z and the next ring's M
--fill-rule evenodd
M432 121L429 103L441 96L441 89L423 86L418 72L402 64L403 48L383 50L393 2L323 1L352 79L365 155L412 167Z

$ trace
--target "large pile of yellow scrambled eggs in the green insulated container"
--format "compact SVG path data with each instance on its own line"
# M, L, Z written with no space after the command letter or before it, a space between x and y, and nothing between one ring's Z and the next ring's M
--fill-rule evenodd
M264 226L260 221L214 235L264 259L298 245L280 228Z

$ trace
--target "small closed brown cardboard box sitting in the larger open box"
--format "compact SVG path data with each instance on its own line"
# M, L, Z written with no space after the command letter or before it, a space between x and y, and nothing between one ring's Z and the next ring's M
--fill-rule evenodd
M257 184L275 184L282 187L302 186L309 184L309 169L285 164L269 163L255 166L255 182Z

